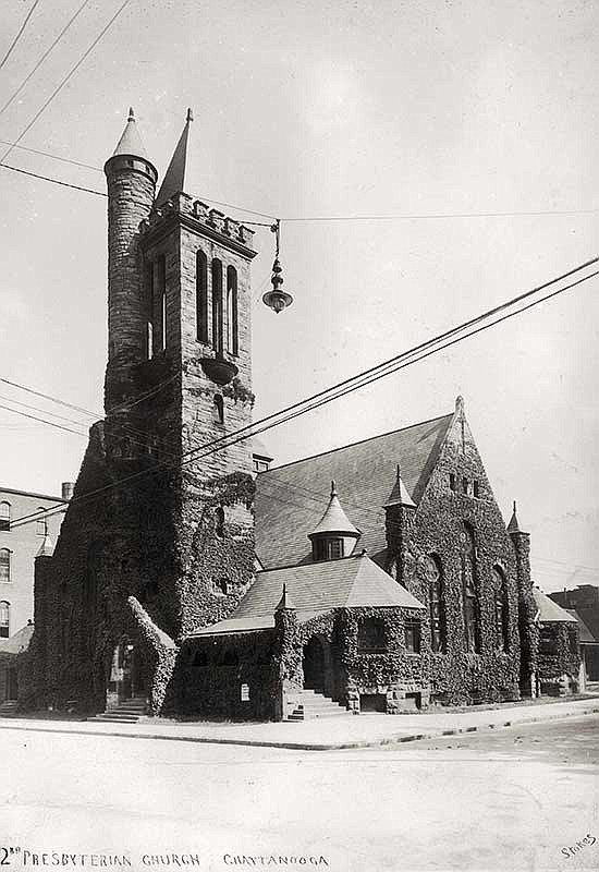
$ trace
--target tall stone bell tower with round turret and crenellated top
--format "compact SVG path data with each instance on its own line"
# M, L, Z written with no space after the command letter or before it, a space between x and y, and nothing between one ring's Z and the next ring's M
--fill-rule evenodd
M157 195L133 111L105 167L107 461L132 480L135 593L173 638L229 614L254 560L252 447L234 434L252 422L256 252L187 192L192 124L188 110Z

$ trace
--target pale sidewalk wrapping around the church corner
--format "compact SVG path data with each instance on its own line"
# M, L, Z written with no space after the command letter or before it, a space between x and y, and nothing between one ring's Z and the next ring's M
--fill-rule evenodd
M333 751L431 739L438 736L475 732L597 712L599 712L599 695L572 702L528 703L498 708L474 708L466 712L431 712L430 714L414 715L363 714L359 716L347 714L347 716L293 724L175 723L160 718L148 718L137 724L108 722L102 724L85 720L11 717L0 720L0 729Z

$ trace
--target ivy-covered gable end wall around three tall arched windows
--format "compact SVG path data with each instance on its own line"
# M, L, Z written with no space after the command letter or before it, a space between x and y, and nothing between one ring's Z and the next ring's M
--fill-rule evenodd
M418 507L392 507L387 511L387 569L426 606L425 669L432 700L461 704L518 699L522 610L526 604L533 608L529 568L527 577L527 567L522 567L518 573L517 549L506 532L460 403ZM463 590L466 524L475 541L477 652L466 646ZM431 651L429 555L436 555L441 567L444 620L443 651L439 653ZM498 645L494 568L505 580L504 651ZM525 633L534 632L528 613L523 625Z

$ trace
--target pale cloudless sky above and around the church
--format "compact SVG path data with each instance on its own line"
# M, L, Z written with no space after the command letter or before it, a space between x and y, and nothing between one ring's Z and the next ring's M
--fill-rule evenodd
M0 4L0 58L30 5ZM90 0L2 110L80 5L40 0L0 70L3 142L121 0ZM130 0L21 142L90 166L16 148L5 162L103 191L131 105L163 173L192 107L190 193L282 220L294 303L281 315L260 302L273 237L255 238L261 417L598 254L598 25L592 0ZM5 169L0 185L0 376L100 416L106 199ZM363 219L473 213L528 215ZM311 220L331 216L362 218ZM462 395L499 506L508 520L516 499L531 534L536 582L597 584L598 282L262 438L283 463L447 414ZM0 384L0 404L15 401L77 433L0 409L0 483L60 493L94 416Z

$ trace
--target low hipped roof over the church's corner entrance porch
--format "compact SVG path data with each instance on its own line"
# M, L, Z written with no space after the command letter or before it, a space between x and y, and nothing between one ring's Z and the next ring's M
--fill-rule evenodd
M403 606L423 609L421 603L383 572L366 554L304 566L258 572L232 617L195 633L249 632L274 627L274 609L285 585L300 621L332 608Z

